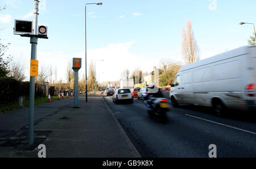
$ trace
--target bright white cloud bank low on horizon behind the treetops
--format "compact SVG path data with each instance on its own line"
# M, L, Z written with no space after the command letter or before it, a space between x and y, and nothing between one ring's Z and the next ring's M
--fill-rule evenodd
M104 60L96 62L96 74L97 79L100 82L118 81L121 79L123 70L129 69L130 72L140 68L143 72L150 72L154 66L158 66L159 61L162 58L170 58L172 61L176 57L169 57L168 54L158 53L152 54L150 52L146 54L138 54L131 52L131 48L135 45L135 41L129 41L126 43L109 44L106 47L88 49L87 51L87 74L89 74L89 64L91 61ZM21 57L26 65L26 75L29 77L30 73L30 48L13 48L8 50L11 56ZM157 57L155 57L157 56ZM174 56L176 56L174 54ZM82 58L82 68L79 74L85 74L85 52L74 54L66 54L61 51L43 51L38 50L39 65L52 66L53 70L57 67L57 80L62 79L66 81L65 74L67 70L67 64L73 57ZM53 74L54 76L54 74ZM27 79L29 80L29 79Z

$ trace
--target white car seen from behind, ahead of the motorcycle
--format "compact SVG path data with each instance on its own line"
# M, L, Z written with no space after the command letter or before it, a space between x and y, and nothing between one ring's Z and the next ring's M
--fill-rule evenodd
M115 90L113 95L113 103L119 104L120 102L130 102L133 103L133 96L129 88L119 88Z

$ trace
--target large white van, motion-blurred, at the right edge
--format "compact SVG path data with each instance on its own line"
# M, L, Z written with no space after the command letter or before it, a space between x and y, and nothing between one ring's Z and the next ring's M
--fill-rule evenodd
M225 108L255 111L256 46L231 50L181 67L170 92L179 103L213 107L221 116Z

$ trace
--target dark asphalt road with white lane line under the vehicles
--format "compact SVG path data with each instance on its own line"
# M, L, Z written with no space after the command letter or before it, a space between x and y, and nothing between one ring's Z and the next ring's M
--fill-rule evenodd
M221 118L209 108L180 105L161 124L148 117L142 100L115 105L112 96L104 98L142 157L208 158L211 144L217 157L256 157L256 120L251 115L234 112Z

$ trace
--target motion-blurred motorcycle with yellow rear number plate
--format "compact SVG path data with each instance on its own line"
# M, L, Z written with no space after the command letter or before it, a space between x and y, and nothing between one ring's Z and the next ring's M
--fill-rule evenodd
M170 111L170 105L165 98L153 98L149 96L144 100L144 103L150 117L156 117L162 123L167 122L166 113Z

